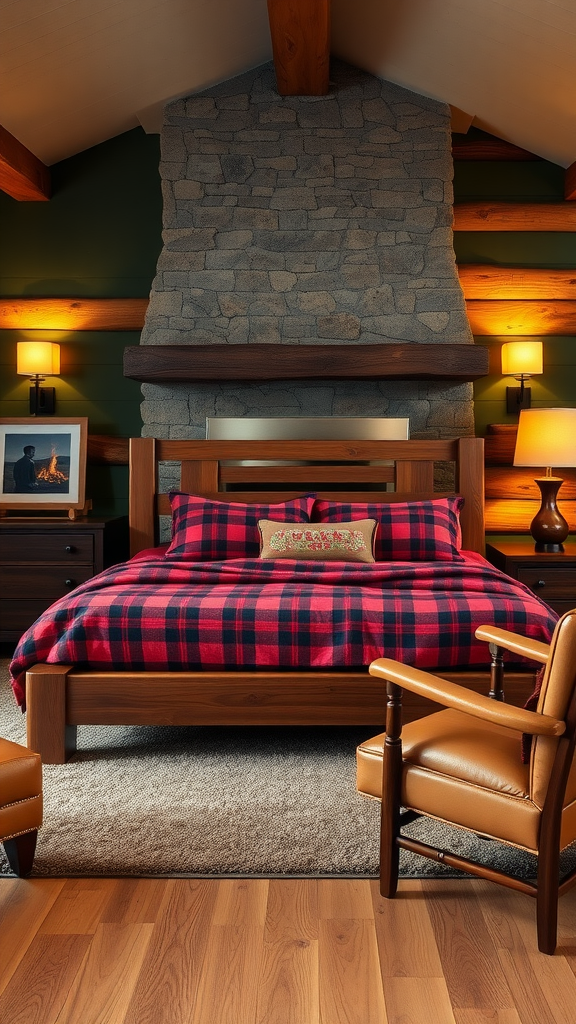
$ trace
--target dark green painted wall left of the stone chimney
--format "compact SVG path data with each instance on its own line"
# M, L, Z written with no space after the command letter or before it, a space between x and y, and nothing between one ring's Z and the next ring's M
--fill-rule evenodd
M158 135L140 128L50 168L48 203L0 193L0 295L147 297L162 239ZM138 332L0 331L0 416L28 416L29 382L15 373L16 341L60 343L58 416L87 416L92 433L139 434L140 385L122 376ZM87 495L99 513L127 509L127 470L91 467Z

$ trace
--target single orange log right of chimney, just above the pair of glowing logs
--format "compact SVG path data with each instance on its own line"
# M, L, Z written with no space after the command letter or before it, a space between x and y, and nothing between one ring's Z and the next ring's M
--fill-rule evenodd
M574 231L576 207L569 203L457 203L455 231Z

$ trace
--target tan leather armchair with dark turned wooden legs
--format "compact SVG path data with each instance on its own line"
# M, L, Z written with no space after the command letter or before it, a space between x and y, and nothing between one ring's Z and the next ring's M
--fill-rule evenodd
M396 894L401 848L499 882L536 897L538 948L553 953L558 898L576 882L576 869L559 880L560 852L576 840L576 608L562 616L549 645L493 626L476 635L545 666L535 712L389 658L370 666L387 681L386 732L358 749L358 788L385 798L380 891ZM403 688L447 710L402 731ZM526 764L523 733L532 737ZM420 815L536 854L536 884L403 836Z

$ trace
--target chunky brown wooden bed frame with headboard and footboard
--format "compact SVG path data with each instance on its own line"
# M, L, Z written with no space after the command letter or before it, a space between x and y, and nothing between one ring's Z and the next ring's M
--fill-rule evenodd
M465 499L463 547L484 551L484 442L481 438L404 441L130 441L130 550L158 543L158 463L180 463L180 488L229 501L285 501L314 490L342 501ZM240 461L278 461L259 467ZM296 462L300 465L289 465ZM303 463L303 465L302 465ZM308 465L305 465L308 463ZM384 464L382 464L384 463ZM386 465L386 463L388 463ZM454 464L454 490L434 490L435 463ZM394 492L387 490L392 484ZM227 487L229 488L227 492ZM242 490L231 488L243 487ZM278 488L278 489L277 489ZM284 489L282 489L284 488ZM364 488L364 489L362 489ZM445 672L486 692L490 671ZM492 669L494 680L501 671ZM528 682L527 682L528 679ZM533 675L509 673L507 698L523 701ZM366 670L99 672L36 665L27 674L28 744L46 764L63 764L78 725L367 725L383 727L385 684ZM406 720L435 706L407 700Z

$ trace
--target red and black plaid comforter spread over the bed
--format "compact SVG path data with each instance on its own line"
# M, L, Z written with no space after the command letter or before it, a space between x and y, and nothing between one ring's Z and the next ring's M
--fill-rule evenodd
M557 615L477 559L311 562L232 559L115 565L61 598L25 633L11 666L24 706L38 662L100 670L487 664L478 626L548 641Z

